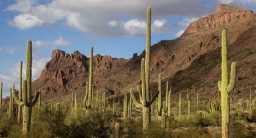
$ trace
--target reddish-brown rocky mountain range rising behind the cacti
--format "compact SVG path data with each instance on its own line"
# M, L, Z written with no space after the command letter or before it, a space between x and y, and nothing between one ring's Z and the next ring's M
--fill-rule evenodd
M164 82L169 80L172 85L174 98L186 89L192 97L196 91L204 98L217 96L224 28L228 32L229 61L237 62L236 96L246 94L248 86L256 88L256 15L251 10L221 4L213 14L190 23L181 37L162 40L151 47L151 91L157 90L158 73L162 73ZM136 88L144 57L145 51L140 55L134 53L131 59L95 55L95 89L98 87L100 94L107 92L108 97L119 97ZM83 99L88 79L89 58L78 51L69 54L54 50L51 61L33 82L33 90L41 88L47 101L67 103L72 92L78 94L79 100Z

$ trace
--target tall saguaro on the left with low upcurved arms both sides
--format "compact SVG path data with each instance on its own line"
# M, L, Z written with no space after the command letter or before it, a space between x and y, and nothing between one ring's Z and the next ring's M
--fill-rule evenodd
M39 92L32 99L31 97L31 82L32 82L32 41L28 40L27 46L27 67L26 67L26 79L23 80L22 100L16 95L16 91L13 91L13 97L17 104L23 106L23 134L27 134L30 131L31 124L31 112L32 107L37 103L39 98Z

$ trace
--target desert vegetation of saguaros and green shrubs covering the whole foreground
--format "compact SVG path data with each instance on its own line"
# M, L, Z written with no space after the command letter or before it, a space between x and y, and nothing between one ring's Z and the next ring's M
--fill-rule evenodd
M228 73L226 29L222 31L222 63L217 97L208 100L200 92L191 97L179 94L173 100L172 84L158 75L158 91L149 83L151 47L151 8L147 11L145 58L141 61L141 82L122 97L109 98L93 84L93 47L90 51L89 82L84 100L76 93L69 104L42 100L40 89L31 91L32 41L27 44L26 76L22 79L20 62L19 89L10 88L8 106L0 109L1 137L256 137L255 94L237 98L236 62ZM240 55L237 55L240 56ZM228 77L230 74L230 77ZM166 83L166 92L162 90ZM2 105L2 85L0 88ZM216 87L216 88L217 88ZM136 88L136 89L135 89ZM165 93L165 95L163 95ZM34 94L34 96L33 96ZM152 95L153 94L153 95ZM204 99L204 100L202 100Z

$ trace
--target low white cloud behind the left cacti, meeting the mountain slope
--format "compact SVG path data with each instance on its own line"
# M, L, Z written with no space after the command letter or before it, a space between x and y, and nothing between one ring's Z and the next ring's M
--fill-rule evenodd
M48 62L49 60L50 60L49 58L33 60L33 65L32 65L33 80L36 80L40 76L40 73L45 67L46 62ZM22 71L23 78L25 78L25 67L26 67L25 65L26 63L23 62L23 71ZM10 68L4 72L0 72L0 80L1 82L3 82L4 92L9 92L10 87L13 85L13 83L16 84L16 88L19 88L19 68L20 68L20 62L14 64L13 68ZM8 93L5 95L8 95Z

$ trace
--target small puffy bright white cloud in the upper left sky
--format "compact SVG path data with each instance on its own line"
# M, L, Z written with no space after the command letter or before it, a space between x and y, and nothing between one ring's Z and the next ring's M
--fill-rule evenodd
M29 29L42 25L43 21L40 20L37 16L30 14L19 14L18 16L15 16L12 21L8 22L8 24L11 26L16 26L20 29Z

